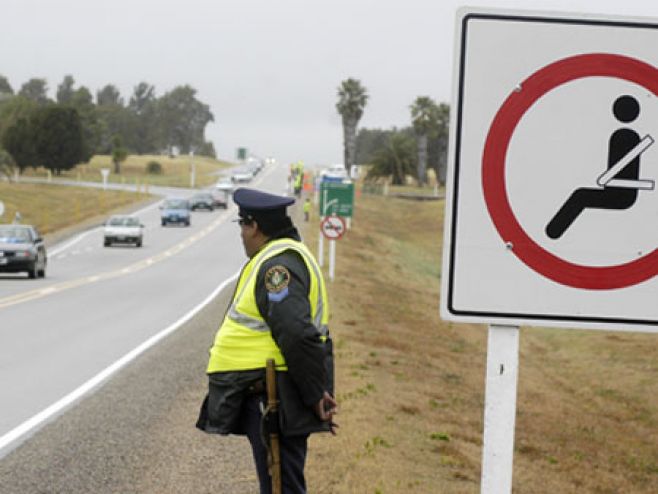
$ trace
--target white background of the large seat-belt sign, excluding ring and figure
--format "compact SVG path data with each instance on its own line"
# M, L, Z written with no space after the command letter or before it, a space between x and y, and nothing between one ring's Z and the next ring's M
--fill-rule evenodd
M502 11L458 16L442 317L492 324L534 324L658 332L658 280L617 289L574 288L528 267L496 230L485 204L482 153L491 123L515 88L542 68L582 54L613 54L658 65L658 23ZM521 87L521 91L523 88ZM639 117L612 114L621 95ZM608 140L621 127L658 141L658 99L614 77L584 77L541 96L513 132L505 162L517 221L540 247L570 263L624 264L658 248L658 190L639 191L626 210L585 209L557 240L544 228L569 195L596 187ZM658 185L658 142L640 159L640 178Z

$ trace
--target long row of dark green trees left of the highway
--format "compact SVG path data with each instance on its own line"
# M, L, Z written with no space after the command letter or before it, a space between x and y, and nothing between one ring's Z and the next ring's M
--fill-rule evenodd
M213 121L210 107L189 85L158 96L155 86L140 82L126 102L113 84L94 98L67 75L53 100L46 79L30 79L15 92L0 75L0 168L44 166L59 173L95 154L177 151L214 158L214 146L204 137Z

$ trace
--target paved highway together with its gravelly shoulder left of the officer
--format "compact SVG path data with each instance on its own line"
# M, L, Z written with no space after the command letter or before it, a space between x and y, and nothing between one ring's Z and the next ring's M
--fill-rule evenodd
M285 175L251 186L283 193ZM140 213L142 249L91 230L51 248L45 280L0 278L1 493L255 490L246 441L193 427L230 288L156 344L244 262L235 207L189 229L158 213Z

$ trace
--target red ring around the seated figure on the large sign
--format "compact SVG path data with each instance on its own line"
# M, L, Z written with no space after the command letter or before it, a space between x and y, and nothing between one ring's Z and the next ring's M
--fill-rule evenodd
M634 82L658 96L658 70L634 58L608 53L577 55L547 65L510 94L491 123L482 155L482 188L489 215L512 252L537 273L574 288L609 290L646 281L658 274L658 249L624 264L586 266L551 254L532 240L512 211L505 185L505 161L514 130L525 112L544 94L584 77L615 77Z

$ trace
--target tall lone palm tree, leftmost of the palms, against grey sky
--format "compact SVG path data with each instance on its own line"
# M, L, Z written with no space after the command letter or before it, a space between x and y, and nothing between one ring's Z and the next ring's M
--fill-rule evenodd
M356 155L356 126L368 101L366 88L357 79L346 79L338 87L336 109L343 119L343 155L349 172Z

